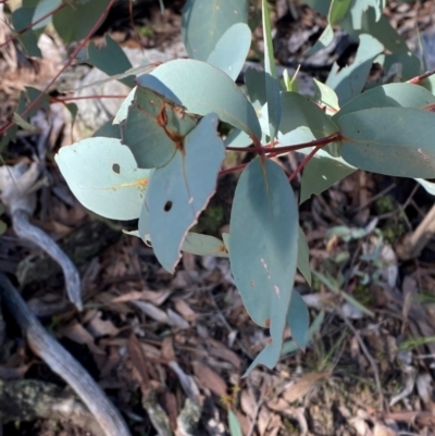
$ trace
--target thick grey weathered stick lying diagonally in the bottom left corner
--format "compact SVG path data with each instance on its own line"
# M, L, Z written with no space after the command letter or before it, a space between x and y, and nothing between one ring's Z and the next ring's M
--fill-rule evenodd
M85 369L50 336L18 291L0 273L0 297L23 329L32 350L59 374L88 407L105 436L130 436L119 411Z

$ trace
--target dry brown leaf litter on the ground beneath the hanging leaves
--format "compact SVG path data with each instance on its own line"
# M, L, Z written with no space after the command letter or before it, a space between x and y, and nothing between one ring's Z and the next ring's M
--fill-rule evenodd
M409 23L424 28L430 3L424 3L425 14L394 3L391 20L408 23L403 33L412 27ZM306 22L315 22L313 16L307 20L306 9L300 12ZM9 76L1 80L8 85L3 92L16 86ZM104 228L99 235L107 244L85 253L69 252L84 277L83 313L77 315L62 303L59 272L46 271L45 257L11 229L1 237L0 267L22 281L24 296L44 312L46 328L111 393L134 434L176 427L189 434L183 413L197 413L200 434L214 428L213 434L223 435L228 410L249 436L435 431L434 247L426 247L418 266L401 265L394 254L401 236L415 228L428 208L421 189L415 194L405 185L400 192L394 188L391 195L376 199L378 186L388 188L385 185L391 180L356 173L308 202L301 222L308 231L310 266L333 288L315 279L309 288L301 276L297 283L302 298L312 301L311 321L321 311L324 321L304 353L293 351L275 370L257 369L243 378L251 356L264 347L268 331L249 320L228 277L227 261L187 256L171 276L139 240L113 237L110 229L116 223L86 214L69 199L55 169L50 172L55 183L38 197L40 210L34 222L61 244L73 235L91 242L88 235L96 232L96 223ZM378 222L369 232L373 217ZM353 236L356 228L366 232L346 240L328 236L338 226L351 229ZM120 229L115 228L116 235ZM30 272L37 278L26 279ZM366 316L344 292L374 316ZM285 341L291 340L290 335L287 329ZM2 342L0 374L2 379L61 384L17 332L8 332Z

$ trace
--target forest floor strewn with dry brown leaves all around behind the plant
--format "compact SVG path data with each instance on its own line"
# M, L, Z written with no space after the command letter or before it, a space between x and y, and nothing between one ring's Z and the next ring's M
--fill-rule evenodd
M325 52L321 61L307 62L303 53L321 34L324 17L299 2L291 2L294 10L285 1L275 3L274 42L281 65L295 68L301 63L302 73L325 77L334 61L351 61L356 46L349 41L340 55ZM433 28L434 3L389 2L386 14L411 41L418 28ZM158 1L135 3L135 32L126 4L108 17L96 40L110 32L123 47L144 50L145 55L152 50L185 55L179 49L183 1L167 2L164 14ZM3 52L1 123L11 115L23 85L45 83L45 75L51 74L50 68L35 71L32 65L12 71L14 61L5 58ZM67 138L61 126L44 142L50 186L38 192L33 224L59 241L77 264L84 311L77 313L65 302L55 263L12 228L0 236L0 272L105 390L133 435L157 434L140 400L145 381L173 428L185 403L185 384L199 389L203 406L198 435L211 428L214 435L227 435L228 410L245 436L435 434L434 240L411 259L402 254L434 203L417 182L358 171L301 205L310 265L320 273L311 287L301 276L296 281L310 308L312 339L301 351L286 332L276 368L257 368L243 377L268 332L249 319L228 262L184 254L175 275L170 275L149 247L121 232L121 223L87 212L69 192L53 159ZM38 144L38 135L20 136L3 150L5 163L29 162ZM297 159L283 164L295 165ZM235 183L236 175L220 182L219 200L200 223L209 232L227 228ZM4 221L10 224L8 216ZM349 304L343 292L366 310ZM33 353L8 310L3 312L0 410L10 401L1 394L8 383L37 381L67 395L64 382ZM13 386L18 390L25 385ZM3 425L5 436L89 434L71 422L53 424L47 416L24 421L14 413L18 418Z

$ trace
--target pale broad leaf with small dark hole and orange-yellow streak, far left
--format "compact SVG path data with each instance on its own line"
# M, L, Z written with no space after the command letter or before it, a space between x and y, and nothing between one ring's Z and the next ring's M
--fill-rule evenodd
M112 220L139 217L149 170L139 170L119 139L84 139L62 147L54 159L85 208Z

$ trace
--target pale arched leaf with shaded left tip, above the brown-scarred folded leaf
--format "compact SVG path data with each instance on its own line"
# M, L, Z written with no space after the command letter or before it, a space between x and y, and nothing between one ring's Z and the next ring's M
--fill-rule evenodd
M165 62L151 74L139 76L137 83L184 105L187 112L198 115L214 112L221 121L250 137L261 138L252 104L224 72L207 62L191 59Z

